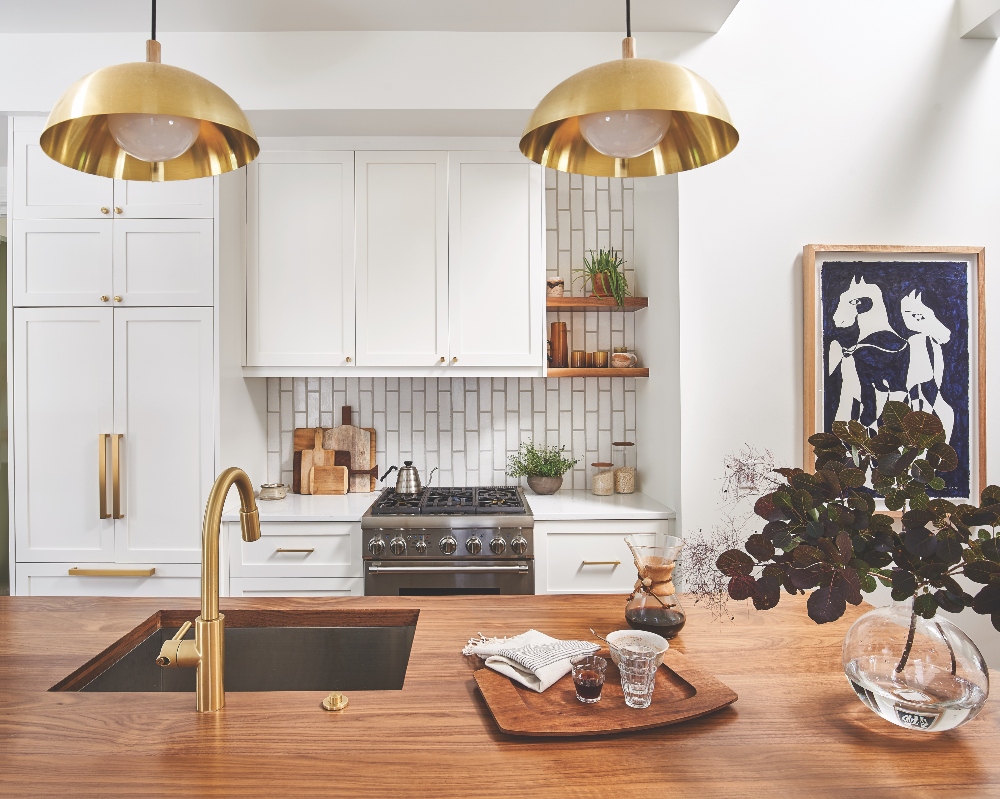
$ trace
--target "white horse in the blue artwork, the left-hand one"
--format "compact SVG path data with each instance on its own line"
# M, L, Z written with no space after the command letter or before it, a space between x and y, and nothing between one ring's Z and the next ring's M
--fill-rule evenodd
M906 402L909 397L907 341L889 324L882 289L864 277L854 278L840 295L833 323L840 328L858 326L854 346L830 343L829 374L840 369L841 376L834 419L853 419L875 432L885 403Z

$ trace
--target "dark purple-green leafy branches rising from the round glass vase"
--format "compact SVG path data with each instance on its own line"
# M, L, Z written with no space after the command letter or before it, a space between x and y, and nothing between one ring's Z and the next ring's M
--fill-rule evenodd
M767 520L764 529L750 536L746 551L723 552L716 566L729 578L729 596L760 610L777 605L782 588L811 590L807 609L819 624L843 616L848 602L860 604L876 581L892 588L894 600L913 597L901 670L918 615L971 607L1000 630L1000 487L984 489L979 507L932 498L929 489L945 486L939 473L958 466L940 420L887 402L880 421L876 435L851 421L811 436L815 473L776 469L784 484L754 507ZM904 511L900 531L891 516L876 513L864 488L869 475L886 507ZM959 575L982 588L969 594Z

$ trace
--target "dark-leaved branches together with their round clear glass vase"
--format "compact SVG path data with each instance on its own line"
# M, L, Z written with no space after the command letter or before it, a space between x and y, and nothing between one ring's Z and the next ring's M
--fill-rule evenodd
M875 435L835 422L809 443L815 472L777 469L785 484L754 508L767 524L746 551L719 556L729 595L767 610L782 589L809 591L809 617L825 624L882 583L893 606L863 615L844 641L851 687L901 727L964 724L986 701L988 671L971 639L937 612L972 608L1000 630L1000 488L984 489L979 507L933 496L958 457L936 416L902 402L886 403ZM903 511L898 523L876 512L875 492ZM982 587L973 595L970 584Z

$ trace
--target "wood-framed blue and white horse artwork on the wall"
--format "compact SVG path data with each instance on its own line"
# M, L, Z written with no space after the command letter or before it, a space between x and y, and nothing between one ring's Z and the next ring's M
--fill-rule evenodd
M878 430L889 400L937 416L959 466L933 492L978 504L986 486L982 247L809 244L803 269L803 455L834 421Z

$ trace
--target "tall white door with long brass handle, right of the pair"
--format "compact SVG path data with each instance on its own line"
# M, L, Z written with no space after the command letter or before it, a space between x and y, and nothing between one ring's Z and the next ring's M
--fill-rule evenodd
M215 479L211 308L115 310L116 560L197 563Z

